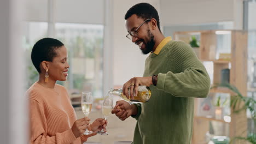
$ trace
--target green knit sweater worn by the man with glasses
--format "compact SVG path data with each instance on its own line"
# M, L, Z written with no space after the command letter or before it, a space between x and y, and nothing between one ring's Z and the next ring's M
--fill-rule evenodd
M159 55L146 59L144 76L158 75L150 86L147 103L135 104L138 113L134 144L189 144L192 137L194 98L205 98L210 77L193 49L181 41L169 41Z

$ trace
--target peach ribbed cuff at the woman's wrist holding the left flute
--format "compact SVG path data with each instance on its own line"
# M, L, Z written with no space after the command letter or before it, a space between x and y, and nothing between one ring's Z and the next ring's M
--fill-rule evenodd
M59 143L72 143L75 139L77 139L75 136L74 136L74 134L73 134L73 132L72 132L72 130L71 129L69 129L69 130L66 130L66 131L64 131L63 133L57 133L56 134L56 136L57 135L60 135L60 137L61 137L61 139L57 139L57 141L61 141L61 142L59 142ZM58 136L57 136L58 137ZM58 143L58 142L57 142Z

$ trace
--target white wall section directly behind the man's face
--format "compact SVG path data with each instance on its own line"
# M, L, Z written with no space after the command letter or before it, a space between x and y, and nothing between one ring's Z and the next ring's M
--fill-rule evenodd
M138 46L125 36L124 16L133 5L147 2L159 10L159 0L151 1L120 1L113 0L113 33L111 35L113 46L113 85L123 86L123 84L134 76L142 76L144 71L145 59L148 55L143 55Z

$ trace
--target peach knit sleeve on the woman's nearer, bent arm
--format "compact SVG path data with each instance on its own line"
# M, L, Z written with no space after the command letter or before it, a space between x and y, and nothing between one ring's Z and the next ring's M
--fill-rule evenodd
M30 143L64 143L69 144L77 138L74 136L71 129L56 133L55 136L46 134L45 125L46 118L44 115L43 106L37 100L30 99L30 121L31 121L31 137Z

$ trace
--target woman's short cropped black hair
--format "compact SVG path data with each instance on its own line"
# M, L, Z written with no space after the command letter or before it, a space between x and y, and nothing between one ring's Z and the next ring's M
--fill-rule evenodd
M55 50L63 45L60 40L53 38L43 38L34 44L31 60L39 74L41 73L40 63L43 61L53 62L53 58L57 56Z

